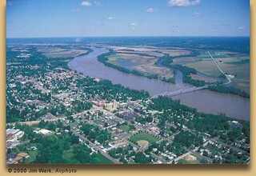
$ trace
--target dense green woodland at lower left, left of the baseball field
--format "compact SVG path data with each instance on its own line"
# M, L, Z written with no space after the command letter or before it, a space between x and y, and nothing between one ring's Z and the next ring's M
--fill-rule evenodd
M34 133L32 126L17 124L16 127L25 132L26 136L23 140L30 140L30 143L38 148L38 154L33 163L110 163L102 154L93 153L88 146L80 144L78 136L71 132L43 136ZM42 121L38 127L48 130L54 130L56 127L66 129L62 122Z

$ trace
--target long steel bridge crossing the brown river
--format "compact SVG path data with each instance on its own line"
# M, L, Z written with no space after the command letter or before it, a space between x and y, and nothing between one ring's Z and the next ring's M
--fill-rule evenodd
M155 94L152 98L158 98L159 96L167 96L167 97L174 97L176 95L179 94L189 94L191 92L195 92L198 90L204 90L207 89L208 85L206 86L199 86L199 87L191 87L191 88L187 88L187 89L181 89L181 90L176 90L176 91L172 91L172 92L164 92L162 94Z

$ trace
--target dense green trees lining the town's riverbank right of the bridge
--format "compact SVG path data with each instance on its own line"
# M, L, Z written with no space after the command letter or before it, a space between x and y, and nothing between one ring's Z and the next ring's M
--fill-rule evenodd
M164 122L170 118L170 111L176 110L178 114L183 114L186 117L187 112L191 112L194 114L194 118L190 118L189 121L182 120L182 118L174 118L172 117L172 121L174 124L177 120L177 123L175 126L178 126L178 123L184 124L187 127L189 127L191 130L197 130L198 132L202 133L208 133L213 136L217 136L219 134L219 131L225 131L230 129L230 121L233 121L234 118L228 118L225 114L220 115L214 115L214 114L205 114L205 113L199 113L196 109L190 108L188 106L181 105L178 100L173 100L171 98L167 97L159 97L152 99L152 102L148 107L153 110L161 110L164 113L162 114L161 122L159 122L158 126L162 127L164 126ZM243 138L245 137L246 140L249 140L250 138L250 130L249 125L250 123L244 120L238 120L236 121L240 122L242 124L242 132L243 133L233 133L233 137L231 135L226 136L226 138L230 138L231 141L234 141L232 138ZM182 126L181 126L182 127ZM224 138L224 137L223 137Z

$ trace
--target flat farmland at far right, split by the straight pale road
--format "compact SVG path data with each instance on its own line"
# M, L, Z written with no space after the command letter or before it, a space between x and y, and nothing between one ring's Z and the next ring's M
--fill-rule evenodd
M234 78L231 80L233 86L245 90L246 92L250 92L249 55L234 52L215 52L212 56L225 73L234 75ZM207 56L206 54L199 55L197 58L175 58L173 64L189 66L210 77L218 78L222 75L210 56ZM200 75L191 75L191 78L206 82L214 82L214 78L211 80L211 78L206 78Z

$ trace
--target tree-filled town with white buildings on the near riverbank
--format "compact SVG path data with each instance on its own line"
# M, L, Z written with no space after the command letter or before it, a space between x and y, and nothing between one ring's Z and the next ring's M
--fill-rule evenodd
M28 51L6 65L7 164L250 162L247 121L151 98L19 47Z

